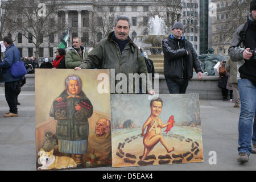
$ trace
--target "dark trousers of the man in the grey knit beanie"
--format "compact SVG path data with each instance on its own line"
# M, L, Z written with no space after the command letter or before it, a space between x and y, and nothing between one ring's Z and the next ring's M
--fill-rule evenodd
M188 86L188 80L185 79L182 84L178 84L176 81L166 78L166 84L170 93L185 93Z

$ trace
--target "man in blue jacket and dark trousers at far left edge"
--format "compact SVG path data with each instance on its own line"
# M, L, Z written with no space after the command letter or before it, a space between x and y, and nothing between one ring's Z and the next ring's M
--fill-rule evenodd
M6 47L5 58L0 63L0 68L3 73L3 80L5 82L5 98L10 107L10 110L4 115L4 117L18 117L17 98L18 98L18 85L19 81L23 79L21 77L12 77L9 71L11 65L17 61L21 61L20 52L13 44L13 40L10 36L3 38L3 44Z

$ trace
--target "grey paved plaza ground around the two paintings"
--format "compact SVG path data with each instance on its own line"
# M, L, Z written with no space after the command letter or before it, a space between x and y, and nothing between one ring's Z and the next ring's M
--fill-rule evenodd
M3 87L0 87L0 170L36 170L35 92L22 91L18 97L18 118L3 118L9 110ZM89 168L104 171L180 171L180 170L255 170L256 154L249 163L237 162L238 117L240 109L221 100L200 100L204 162L163 166ZM217 164L210 164L216 152Z

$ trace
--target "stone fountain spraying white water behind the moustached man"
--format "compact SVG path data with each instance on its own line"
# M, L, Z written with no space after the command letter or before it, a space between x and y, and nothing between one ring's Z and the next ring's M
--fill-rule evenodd
M151 17L148 21L148 35L137 36L134 43L147 52L148 58L154 63L155 72L163 74L163 49L162 40L167 37L164 35L166 25L158 15Z

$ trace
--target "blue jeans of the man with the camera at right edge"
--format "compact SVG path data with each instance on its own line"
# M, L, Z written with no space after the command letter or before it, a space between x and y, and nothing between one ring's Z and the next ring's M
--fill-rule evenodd
M256 87L250 80L238 80L238 89L241 99L241 113L238 124L238 153L246 152L250 155L251 140L256 143ZM254 121L253 121L254 118Z

